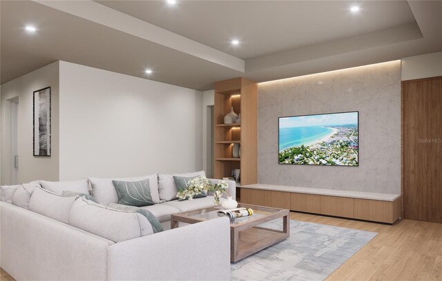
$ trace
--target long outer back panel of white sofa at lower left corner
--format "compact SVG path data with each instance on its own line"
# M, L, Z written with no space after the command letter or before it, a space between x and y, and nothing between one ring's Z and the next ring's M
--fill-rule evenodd
M112 241L7 202L0 210L0 265L15 280L106 280Z

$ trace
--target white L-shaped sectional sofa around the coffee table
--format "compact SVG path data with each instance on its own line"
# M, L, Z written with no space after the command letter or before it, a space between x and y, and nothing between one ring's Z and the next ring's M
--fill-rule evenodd
M170 175L165 176L170 180ZM159 178L162 192L158 198L167 194L164 188L168 187ZM125 180L130 179L136 180ZM170 229L171 214L213 206L213 196L184 201L160 199L158 204L142 207L151 211L165 230L146 235L151 229L140 214L119 211L109 219L108 211L113 210L83 197L70 200L55 192L59 187L79 192L85 188L83 183L93 195L100 189L97 178L77 183L41 181L46 189L32 192L28 209L24 204L0 202L1 268L16 280L230 280L227 217ZM228 183L235 198L236 185ZM21 197L26 197L26 191L20 190ZM176 193L169 191L169 197ZM102 194L105 197L96 198L99 202L115 195ZM8 201L4 192L1 197ZM113 201L115 198L109 204ZM117 221L115 229L113 218Z

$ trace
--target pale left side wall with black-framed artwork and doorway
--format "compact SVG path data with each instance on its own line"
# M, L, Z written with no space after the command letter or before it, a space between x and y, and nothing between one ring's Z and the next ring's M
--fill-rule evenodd
M32 95L51 87L51 156L33 156ZM1 85L1 184L11 183L11 103L19 98L18 141L19 183L59 179L59 63L51 63Z

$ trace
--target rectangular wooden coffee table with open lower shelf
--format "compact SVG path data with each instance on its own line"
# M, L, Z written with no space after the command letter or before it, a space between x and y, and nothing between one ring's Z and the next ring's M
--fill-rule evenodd
M242 258L261 251L290 236L289 210L239 204L238 207L251 208L253 216L230 220L230 261L238 262ZM179 222L193 224L204 220L219 218L217 211L221 207L211 207L186 211L171 216L171 228L178 227ZM262 227L265 222L282 220L281 229Z

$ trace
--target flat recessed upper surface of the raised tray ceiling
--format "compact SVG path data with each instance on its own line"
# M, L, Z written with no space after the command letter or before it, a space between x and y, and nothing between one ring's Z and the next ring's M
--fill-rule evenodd
M406 1L97 2L244 60L416 22Z

